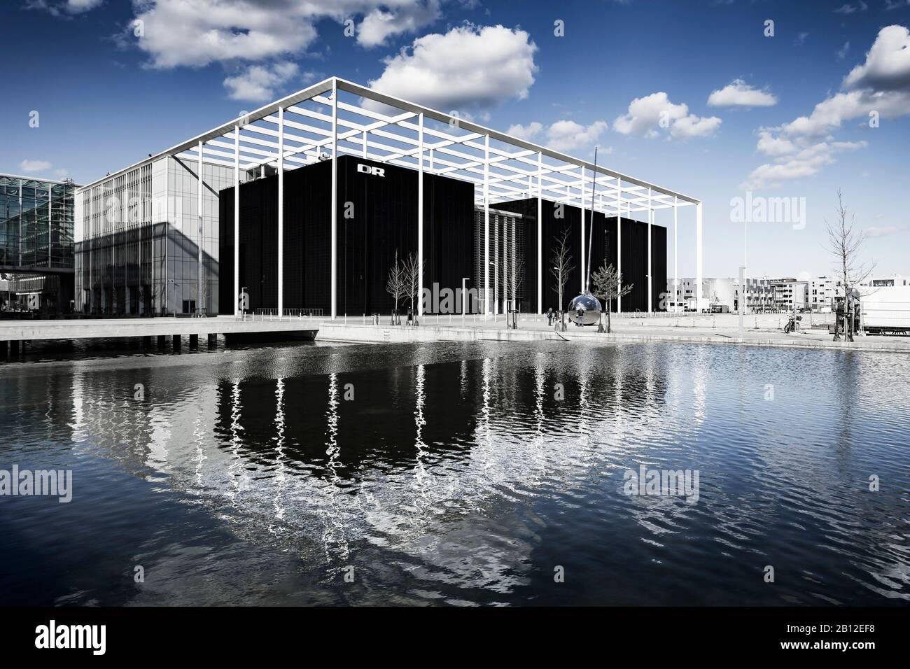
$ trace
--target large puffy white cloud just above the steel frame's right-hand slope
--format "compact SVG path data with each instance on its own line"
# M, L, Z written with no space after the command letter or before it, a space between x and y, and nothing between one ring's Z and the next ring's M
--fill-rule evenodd
M460 25L445 35L423 35L387 58L369 87L464 116L466 110L527 97L537 72L536 51L521 29Z

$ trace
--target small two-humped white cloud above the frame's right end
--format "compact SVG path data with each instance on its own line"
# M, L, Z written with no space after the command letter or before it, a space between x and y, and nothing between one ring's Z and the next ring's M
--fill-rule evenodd
M666 93L658 92L632 100L629 111L613 121L613 129L622 135L645 137L658 137L658 130L666 129L668 137L688 139L713 135L721 123L718 117L689 114L689 106L673 104Z

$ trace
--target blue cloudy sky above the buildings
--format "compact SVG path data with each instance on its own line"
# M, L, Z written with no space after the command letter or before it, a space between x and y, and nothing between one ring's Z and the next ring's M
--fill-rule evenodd
M12 0L0 172L88 182L337 75L702 198L705 276L742 264L746 190L805 203L750 224L750 274L829 273L837 188L876 274L910 274L907 26L910 0Z

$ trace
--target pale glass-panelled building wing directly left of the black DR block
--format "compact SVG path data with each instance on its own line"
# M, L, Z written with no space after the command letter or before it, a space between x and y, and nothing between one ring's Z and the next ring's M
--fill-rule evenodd
M163 157L76 193L76 309L102 315L217 314L218 191L232 167ZM198 250L203 282L197 297Z

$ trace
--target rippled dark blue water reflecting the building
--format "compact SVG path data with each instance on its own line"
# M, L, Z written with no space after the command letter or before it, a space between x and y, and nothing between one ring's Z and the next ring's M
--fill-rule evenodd
M910 600L910 356L38 357L0 366L0 469L70 469L74 496L0 497L0 604ZM624 494L642 464L697 470L697 501Z

